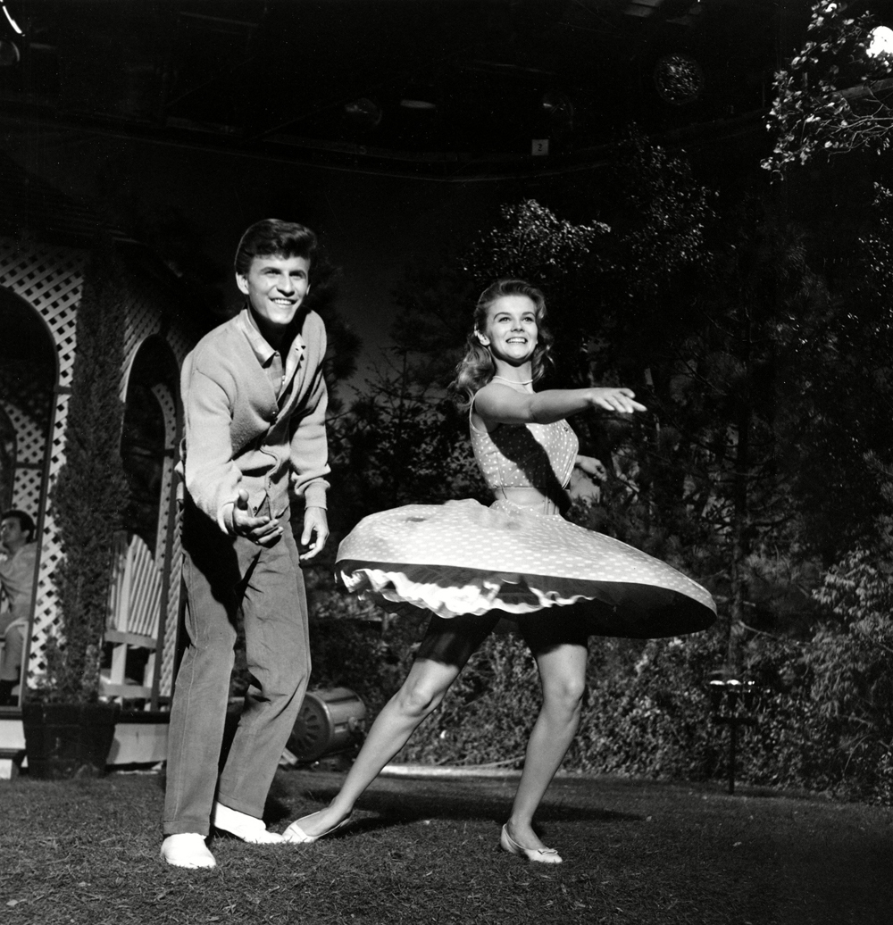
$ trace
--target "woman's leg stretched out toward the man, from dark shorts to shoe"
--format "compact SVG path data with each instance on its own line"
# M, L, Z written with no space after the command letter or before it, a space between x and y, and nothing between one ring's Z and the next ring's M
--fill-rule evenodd
M329 832L350 815L353 804L366 787L403 748L418 726L440 706L465 662L490 635L496 619L431 618L428 633L406 680L372 723L338 795L327 808L304 816L295 825L305 834L316 836Z

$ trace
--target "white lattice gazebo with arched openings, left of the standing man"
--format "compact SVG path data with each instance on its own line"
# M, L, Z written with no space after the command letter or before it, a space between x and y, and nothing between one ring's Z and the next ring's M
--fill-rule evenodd
M2 155L0 202L0 505L31 514L39 542L20 702L43 670L46 641L58 620L54 572L63 550L51 490L64 462L84 268L97 233L110 229L88 206ZM185 288L160 258L113 229L111 234L127 277L119 394L130 507L128 529L115 537L104 694L129 710L130 738L151 746L148 757L131 754L132 743L118 741L130 723L119 724L118 755L113 746L111 760L130 763L155 758L160 734L154 727L164 724L171 697L180 613L174 487L179 370L206 325L192 316ZM23 747L19 709L0 708L0 760L8 762Z

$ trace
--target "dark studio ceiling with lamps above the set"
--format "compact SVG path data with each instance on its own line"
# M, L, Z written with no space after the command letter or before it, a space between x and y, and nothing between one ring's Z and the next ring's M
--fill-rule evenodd
M810 6L0 0L0 123L434 179L573 170L629 123L759 136Z

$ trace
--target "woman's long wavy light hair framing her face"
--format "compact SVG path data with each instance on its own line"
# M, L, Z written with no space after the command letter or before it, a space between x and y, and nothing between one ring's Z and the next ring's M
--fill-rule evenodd
M531 286L524 279L497 279L480 294L475 306L474 327L465 343L465 356L456 366L456 375L450 383L450 393L460 410L466 411L478 389L490 382L496 372L496 364L490 348L478 339L478 333L484 334L487 327L487 313L490 305L507 295L524 295L533 302L537 319L537 346L531 357L533 381L538 382L546 374L547 364L552 363L552 334L546 327L546 300L542 292Z

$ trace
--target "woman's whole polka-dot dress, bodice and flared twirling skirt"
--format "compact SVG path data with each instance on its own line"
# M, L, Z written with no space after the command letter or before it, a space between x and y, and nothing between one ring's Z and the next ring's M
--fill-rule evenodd
M577 437L564 421L471 429L488 485L537 487L554 498L566 486ZM362 598L392 611L424 608L441 617L539 612L583 617L589 632L651 638L705 629L710 594L686 575L559 514L506 499L410 504L371 514L338 549L336 574Z

